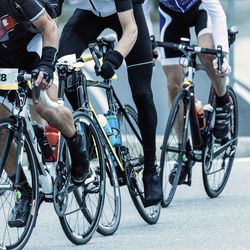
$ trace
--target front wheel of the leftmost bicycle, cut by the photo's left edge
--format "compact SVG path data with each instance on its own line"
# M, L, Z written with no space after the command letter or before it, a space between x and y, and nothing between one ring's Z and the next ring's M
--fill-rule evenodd
M27 132L25 131L23 137L24 147L21 158L21 168L23 169L28 183L32 187L30 213L25 227L10 227L8 225L8 218L20 193L14 189L13 183L8 178L4 169L10 167L10 165L8 165L10 157L16 158L13 149L17 146L17 138L13 120L10 118L0 119L0 164L3 163L2 168L0 167L0 245L2 244L7 249L23 248L27 243L36 222L39 203L38 177L32 145L27 138Z

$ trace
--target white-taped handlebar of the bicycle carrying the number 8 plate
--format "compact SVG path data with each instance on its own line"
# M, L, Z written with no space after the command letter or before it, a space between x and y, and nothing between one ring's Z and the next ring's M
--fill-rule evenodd
M19 73L18 74L18 81L31 81L32 79L36 79L38 76L37 70L34 70L32 74L27 74L27 73ZM51 109L58 109L58 103L52 101L49 96L47 95L47 92L45 90L39 89L38 86L36 86L36 80L34 80L34 90L35 90L35 104L39 102L39 96L41 97L42 101L44 104L51 108Z

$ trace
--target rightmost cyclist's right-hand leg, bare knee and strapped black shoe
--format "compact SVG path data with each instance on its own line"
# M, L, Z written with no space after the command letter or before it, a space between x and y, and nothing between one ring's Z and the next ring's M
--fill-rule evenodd
M205 48L214 48L212 25L205 9L200 9L195 27L198 36L198 45ZM231 100L226 91L226 77L220 77L214 70L213 55L199 55L200 61L206 68L207 74L215 87L216 93L216 120L214 135L220 139L229 133Z

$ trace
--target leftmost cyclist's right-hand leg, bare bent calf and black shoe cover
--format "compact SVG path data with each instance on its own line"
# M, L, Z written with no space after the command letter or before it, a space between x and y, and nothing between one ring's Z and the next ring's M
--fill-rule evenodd
M38 34L27 45L27 58L29 62L32 62L32 64L28 64L27 62L29 71L37 68L39 64L42 52L41 39L41 35ZM54 73L54 82L47 90L47 94L52 101L57 101L57 85L58 77L57 73ZM85 137L80 132L76 132L71 111L66 107L59 107L57 110L50 109L41 100L39 100L38 104L34 105L34 110L50 126L57 128L66 138L70 152L72 153L72 181L75 185L83 184L89 176L86 142Z

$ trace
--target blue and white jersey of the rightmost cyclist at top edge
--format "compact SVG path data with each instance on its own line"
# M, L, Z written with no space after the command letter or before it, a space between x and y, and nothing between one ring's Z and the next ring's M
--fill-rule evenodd
M200 0L160 0L159 2L173 11L185 13L199 1Z

